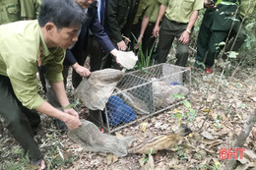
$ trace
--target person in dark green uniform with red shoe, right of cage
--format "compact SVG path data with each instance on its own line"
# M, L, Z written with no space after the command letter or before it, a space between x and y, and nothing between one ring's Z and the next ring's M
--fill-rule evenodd
M238 29L240 0L214 0L215 8L208 8L197 39L196 67L205 65L207 74L213 73L212 66L231 26ZM232 20L235 17L236 20ZM205 59L206 57L206 59ZM205 61L204 61L205 60Z

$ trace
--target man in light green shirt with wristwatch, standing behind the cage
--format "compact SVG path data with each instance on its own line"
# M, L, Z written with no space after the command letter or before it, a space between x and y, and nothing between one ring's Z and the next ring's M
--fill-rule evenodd
M188 59L188 42L191 30L197 20L198 11L203 9L203 0L159 0L160 11L154 35L160 31L158 63L166 61L170 46L177 37L176 63L185 66ZM164 17L163 17L164 15ZM161 27L160 20L162 19Z

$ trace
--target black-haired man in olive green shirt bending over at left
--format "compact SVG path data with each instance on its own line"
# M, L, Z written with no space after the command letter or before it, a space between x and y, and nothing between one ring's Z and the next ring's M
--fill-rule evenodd
M84 11L74 0L43 0L38 20L0 26L0 115L32 163L42 164L41 169L45 162L32 137L33 115L28 110L59 119L71 130L81 126L78 113L67 108L70 103L61 72L65 49L78 40L84 20ZM46 67L45 77L62 111L38 94L38 62Z

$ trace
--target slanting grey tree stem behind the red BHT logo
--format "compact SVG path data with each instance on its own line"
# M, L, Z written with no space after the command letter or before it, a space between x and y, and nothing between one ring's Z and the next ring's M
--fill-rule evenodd
M256 109L253 110L252 115L244 123L243 129L240 132L240 134L234 144L234 148L243 146L243 144L244 144L244 142L246 142L246 139L248 138L255 122L256 122ZM236 162L236 160L227 161L227 163L224 166L224 169L232 169L235 162Z

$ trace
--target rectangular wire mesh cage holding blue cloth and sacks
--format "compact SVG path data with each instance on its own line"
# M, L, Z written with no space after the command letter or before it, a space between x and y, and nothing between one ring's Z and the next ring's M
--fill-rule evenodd
M175 94L188 97L191 71L162 63L126 73L115 87L103 111L105 129L115 132L173 107Z

